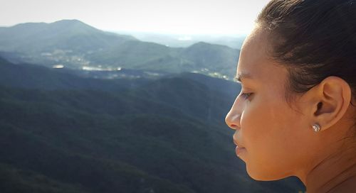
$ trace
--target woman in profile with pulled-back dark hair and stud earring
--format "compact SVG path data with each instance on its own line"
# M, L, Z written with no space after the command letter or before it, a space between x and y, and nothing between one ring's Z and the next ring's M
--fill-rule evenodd
M241 49L226 115L255 180L356 192L356 0L272 0Z

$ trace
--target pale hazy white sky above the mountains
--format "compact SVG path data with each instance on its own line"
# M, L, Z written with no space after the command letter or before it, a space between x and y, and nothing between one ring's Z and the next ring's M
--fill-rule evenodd
M244 34L268 0L0 0L0 26L78 19L106 31Z

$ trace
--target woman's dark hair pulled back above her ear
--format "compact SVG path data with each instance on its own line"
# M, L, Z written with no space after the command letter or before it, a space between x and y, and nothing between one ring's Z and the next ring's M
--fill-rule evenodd
M289 92L337 76L355 97L356 0L272 0L256 22L268 31L273 60L288 69Z

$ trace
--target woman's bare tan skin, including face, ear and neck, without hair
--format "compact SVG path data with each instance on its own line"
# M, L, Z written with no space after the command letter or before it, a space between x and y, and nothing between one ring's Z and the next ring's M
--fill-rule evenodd
M236 154L248 175L263 181L296 176L308 193L355 192L356 114L350 85L327 77L288 103L288 71L271 60L268 45L260 26L246 38L236 70L241 93L225 120L236 130ZM321 131L313 131L313 123Z

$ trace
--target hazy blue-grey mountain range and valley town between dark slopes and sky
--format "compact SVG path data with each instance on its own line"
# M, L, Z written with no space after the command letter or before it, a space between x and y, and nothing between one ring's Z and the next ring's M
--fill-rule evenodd
M199 72L233 79L239 50L196 43L188 48L143 42L100 31L77 20L23 23L0 28L0 53L15 63L80 70Z

